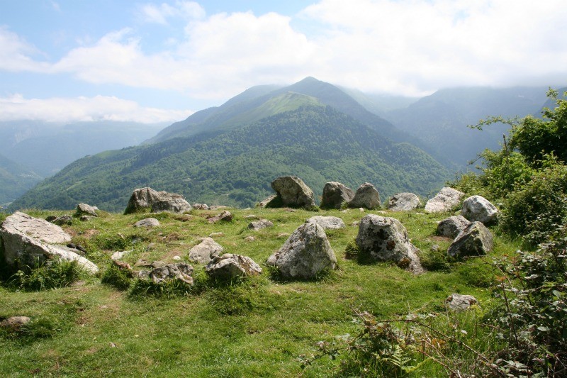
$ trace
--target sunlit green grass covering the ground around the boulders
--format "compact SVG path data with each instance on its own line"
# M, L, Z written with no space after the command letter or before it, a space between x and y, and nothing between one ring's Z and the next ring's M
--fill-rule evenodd
M65 213L26 212L41 218ZM438 238L435 229L437 221L449 214L320 211L317 215L339 216L347 224L344 230L327 233L339 269L313 282L279 282L271 279L264 262L313 212L230 212L234 215L230 223L208 223L207 216L220 211L193 210L187 215L152 214L161 223L156 228L133 228L149 214L104 212L99 218L64 226L73 243L84 246L86 257L102 268L107 284L94 278L37 292L0 285L0 318L33 319L19 333L0 333L0 375L328 377L337 372L339 361L320 359L302 370L298 357L315 352L320 340L357 333L354 309L378 318L413 311L442 313L444 299L453 293L476 296L479 311L490 307L493 272L488 265L480 258L454 262L444 257L450 240ZM346 258L358 231L351 225L368 213L398 218L422 257L439 269L414 276L393 265L359 264ZM274 227L247 229L249 214L272 221ZM106 272L111 254L118 250L130 250L122 260L132 266L140 259L175 262L178 255L186 260L191 247L211 233L223 233L215 241L226 252L252 257L262 265L263 274L244 282L214 284L207 281L202 266L193 265L198 289L171 288L166 295L155 295L147 287L140 289L135 280L127 287L124 277ZM245 240L249 235L254 241ZM497 233L495 238L490 256L519 248L515 240ZM474 334L468 332L470 337ZM414 376L438 372L439 367L424 364Z

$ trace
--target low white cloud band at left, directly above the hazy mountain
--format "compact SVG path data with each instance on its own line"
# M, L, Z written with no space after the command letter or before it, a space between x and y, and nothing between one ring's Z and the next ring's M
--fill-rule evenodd
M135 101L113 96L52 99L25 99L21 94L0 98L0 121L41 120L73 121L133 121L166 123L181 121L192 111L146 108Z

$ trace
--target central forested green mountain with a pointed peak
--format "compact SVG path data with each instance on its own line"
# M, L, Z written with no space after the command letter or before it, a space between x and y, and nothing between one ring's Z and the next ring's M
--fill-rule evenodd
M287 87L310 95L277 89L232 101L207 109L206 116L197 112L184 127L166 128L154 138L161 141L84 157L28 191L11 209L71 209L84 201L123 211L133 189L146 186L183 194L191 202L253 206L272 193L270 182L285 174L301 177L318 195L328 181L354 189L371 182L385 199L397 191L431 194L450 177L427 153L380 132L381 118L371 114L368 119L376 123L363 123L325 104L330 95L346 95L330 94L326 89L332 88L313 80L308 82L315 87L302 89L309 87L305 81ZM369 113L363 110L359 114Z

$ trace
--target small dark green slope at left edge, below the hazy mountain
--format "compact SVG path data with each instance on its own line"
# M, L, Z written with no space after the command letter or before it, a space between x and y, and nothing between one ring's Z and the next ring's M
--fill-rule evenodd
M8 206L41 179L31 169L0 155L0 209Z

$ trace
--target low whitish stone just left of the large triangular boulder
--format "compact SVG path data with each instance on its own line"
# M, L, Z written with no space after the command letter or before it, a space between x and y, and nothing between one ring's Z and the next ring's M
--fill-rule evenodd
M210 260L205 272L212 279L231 281L238 277L255 276L262 273L262 268L250 257L225 253Z

